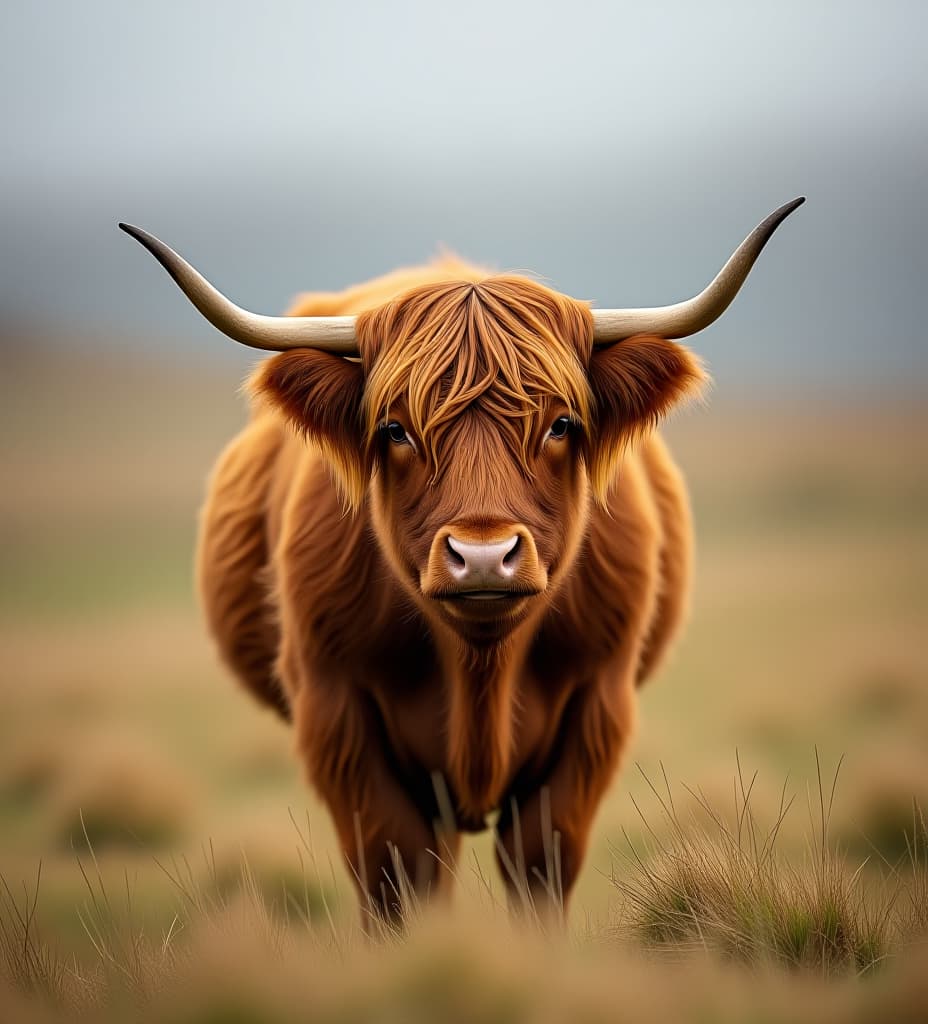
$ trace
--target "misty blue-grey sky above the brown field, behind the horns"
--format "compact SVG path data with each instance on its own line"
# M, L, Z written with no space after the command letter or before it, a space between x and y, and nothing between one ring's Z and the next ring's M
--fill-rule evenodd
M720 381L913 380L923 3L6 4L0 314L223 342L116 230L280 310L438 244L603 305L702 288L808 203L693 345Z

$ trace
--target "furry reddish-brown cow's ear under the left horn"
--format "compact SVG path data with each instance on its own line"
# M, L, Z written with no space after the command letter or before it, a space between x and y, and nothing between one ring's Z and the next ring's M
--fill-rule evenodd
M329 352L299 348L258 367L249 390L281 410L322 449L348 506L356 509L370 476L362 407L361 365Z

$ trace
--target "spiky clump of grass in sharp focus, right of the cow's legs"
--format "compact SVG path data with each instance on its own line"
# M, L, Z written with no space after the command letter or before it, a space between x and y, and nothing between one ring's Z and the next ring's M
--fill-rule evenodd
M776 849L793 803L786 787L778 813L765 830L751 806L756 776L746 782L740 763L730 820L702 794L692 793L703 814L684 823L666 775L663 793L645 776L667 837L659 837L638 808L652 849L643 856L629 841L624 857L628 870L613 871L628 923L645 947L701 949L746 964L826 974L866 974L886 957L892 900L876 905L860 870L850 871L829 846L838 772L826 797L817 752L816 767L817 821L798 865L785 863Z

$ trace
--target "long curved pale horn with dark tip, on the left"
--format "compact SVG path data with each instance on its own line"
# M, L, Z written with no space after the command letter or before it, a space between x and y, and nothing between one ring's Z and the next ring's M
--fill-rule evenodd
M251 313L230 302L185 259L154 234L131 224L119 226L149 250L213 327L235 341L268 352L282 352L288 348L321 348L339 355L357 355L353 316L262 316Z

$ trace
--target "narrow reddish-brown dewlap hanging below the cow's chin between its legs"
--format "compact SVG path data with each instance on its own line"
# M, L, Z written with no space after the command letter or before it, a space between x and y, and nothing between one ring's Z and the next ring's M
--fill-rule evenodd
M469 819L481 820L498 806L509 778L513 679L528 638L518 630L489 647L459 637L448 637L441 645L450 684L449 771L459 810Z

